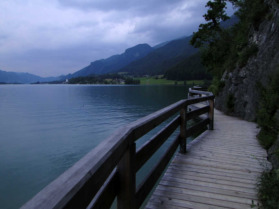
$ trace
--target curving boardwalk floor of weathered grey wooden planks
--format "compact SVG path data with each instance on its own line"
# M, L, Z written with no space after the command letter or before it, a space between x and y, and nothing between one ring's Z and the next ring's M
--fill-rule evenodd
M250 208L257 204L255 183L263 165L255 123L214 110L207 130L177 153L146 208Z

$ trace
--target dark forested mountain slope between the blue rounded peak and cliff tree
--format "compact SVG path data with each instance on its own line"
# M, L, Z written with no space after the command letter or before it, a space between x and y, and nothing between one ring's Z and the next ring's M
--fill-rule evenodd
M157 48L145 57L131 62L119 72L137 72L139 74L163 74L164 71L188 56L195 54L198 49L189 45L192 36L170 41Z

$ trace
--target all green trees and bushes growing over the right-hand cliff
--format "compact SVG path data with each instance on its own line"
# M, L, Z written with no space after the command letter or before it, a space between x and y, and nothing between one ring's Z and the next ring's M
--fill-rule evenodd
M235 15L239 17L238 24L233 27L229 27L227 29L222 28L220 26L220 20L227 20L229 17L225 14L226 2L231 2L233 7L236 9ZM248 102L250 102L250 107L255 107L251 105L251 98L247 97L247 100L244 101L244 96L241 94L241 91L237 91L237 88L245 88L245 82L254 82L258 83L257 87L250 88L250 94L255 94L255 91L260 92L260 97L255 98L257 100L253 104L257 103L258 111L256 115L256 122L261 128L259 133L259 142L266 149L269 149L274 142L278 138L279 131L279 68L277 69L266 69L266 67L262 67L270 63L274 57L276 58L276 54L273 53L271 58L268 60L264 60L261 67L259 67L259 61L257 61L256 66L252 66L252 70L244 70L241 71L243 67L245 67L251 59L251 57L259 57L265 58L265 55L258 56L259 45L256 39L253 37L253 33L257 34L257 37L260 37L261 34L258 32L259 27L263 28L261 23L265 21L266 23L269 20L272 20L274 14L276 14L276 9L270 9L271 4L276 5L278 8L278 0L275 1L267 1L267 0L214 0L209 1L206 4L208 7L207 14L203 17L207 21L206 24L200 24L200 28L198 32L194 33L193 38L190 43L200 48L201 61L203 66L206 68L207 72L210 72L214 76L214 80L212 85L210 86L210 91L212 91L215 95L219 95L219 92L225 88L225 91L222 91L221 96L224 97L222 100L222 104L226 107L227 113L231 113L233 111L239 111L242 107L239 107L239 104L235 103L237 97L239 100L243 100L243 109L245 109ZM276 21L273 24L270 24L269 28L266 31L272 31ZM271 28L271 29L270 29ZM268 38L268 32L265 38ZM274 34L274 31L272 32ZM276 36L276 35L275 35ZM264 38L264 41L265 41ZM277 40L277 39L274 39ZM263 41L263 42L264 42ZM264 42L266 44L266 42ZM264 44L263 44L264 47ZM276 46L275 46L276 47ZM272 49L273 51L277 51L276 48ZM264 50L261 51L266 52ZM276 55L276 56L275 56ZM256 62L256 61L255 61ZM251 80L251 78L255 78L250 76L247 78L246 73L255 73L255 68L257 69L257 73L265 73L265 75L270 76L270 79L267 83L263 81L266 79L259 78L257 80ZM238 71L236 72L236 69ZM265 72L266 71L266 72ZM232 72L232 75L230 74ZM275 72L274 74L270 74L270 72ZM230 84L226 84L228 81L228 77L230 76ZM249 75L248 75L249 76ZM246 79L247 78L247 79ZM246 81L245 81L246 79ZM241 84L241 85L240 85ZM229 85L229 86L228 86ZM239 87L236 87L239 85ZM226 87L225 87L226 86ZM254 92L251 90L254 89ZM246 93L248 91L246 85ZM235 92L238 92L238 95L235 95ZM242 91L243 93L243 91ZM253 98L254 99L254 98ZM248 101L248 102L247 102ZM240 102L239 102L240 103ZM238 110L235 110L235 105L238 105ZM255 109L255 108L254 108ZM253 110L256 111L256 110ZM245 111L244 111L245 112ZM244 114L245 115L245 114ZM243 116L244 117L244 116ZM276 148L275 154L277 153L277 162L279 161L279 149ZM279 206L279 170L273 169L271 172L266 170L259 177L258 188L259 188L259 197L263 203L264 208L278 208ZM253 206L253 205L252 205Z

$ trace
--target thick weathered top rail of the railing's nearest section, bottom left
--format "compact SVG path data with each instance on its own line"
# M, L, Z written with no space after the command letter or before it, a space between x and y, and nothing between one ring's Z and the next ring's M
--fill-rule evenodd
M130 127L119 128L22 208L87 207L132 141Z

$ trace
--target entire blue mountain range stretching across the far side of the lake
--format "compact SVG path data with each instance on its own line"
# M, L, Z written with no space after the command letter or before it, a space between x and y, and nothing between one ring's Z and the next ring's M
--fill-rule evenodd
M228 28L238 22L236 16L231 16L229 20L221 22L221 26ZM193 35L192 35L193 36ZM33 83L54 80L65 80L72 77L88 76L91 74L103 74L108 72L131 72L138 74L159 75L164 74L165 70L172 67L172 72L177 71L176 67L192 65L193 60L188 59L189 56L198 52L193 46L189 45L192 36L183 36L170 41L162 42L156 46L148 44L138 44L125 50L122 54L115 54L107 59L100 59L91 62L90 65L66 76L43 78L30 73L6 72L0 70L0 82L5 83ZM195 56L194 56L195 57ZM178 64L182 60L184 62ZM200 59L194 59L199 61ZM199 63L197 63L198 66ZM188 71L188 70L187 70ZM176 75L182 75L182 72L177 72ZM185 73L185 72L184 72Z

